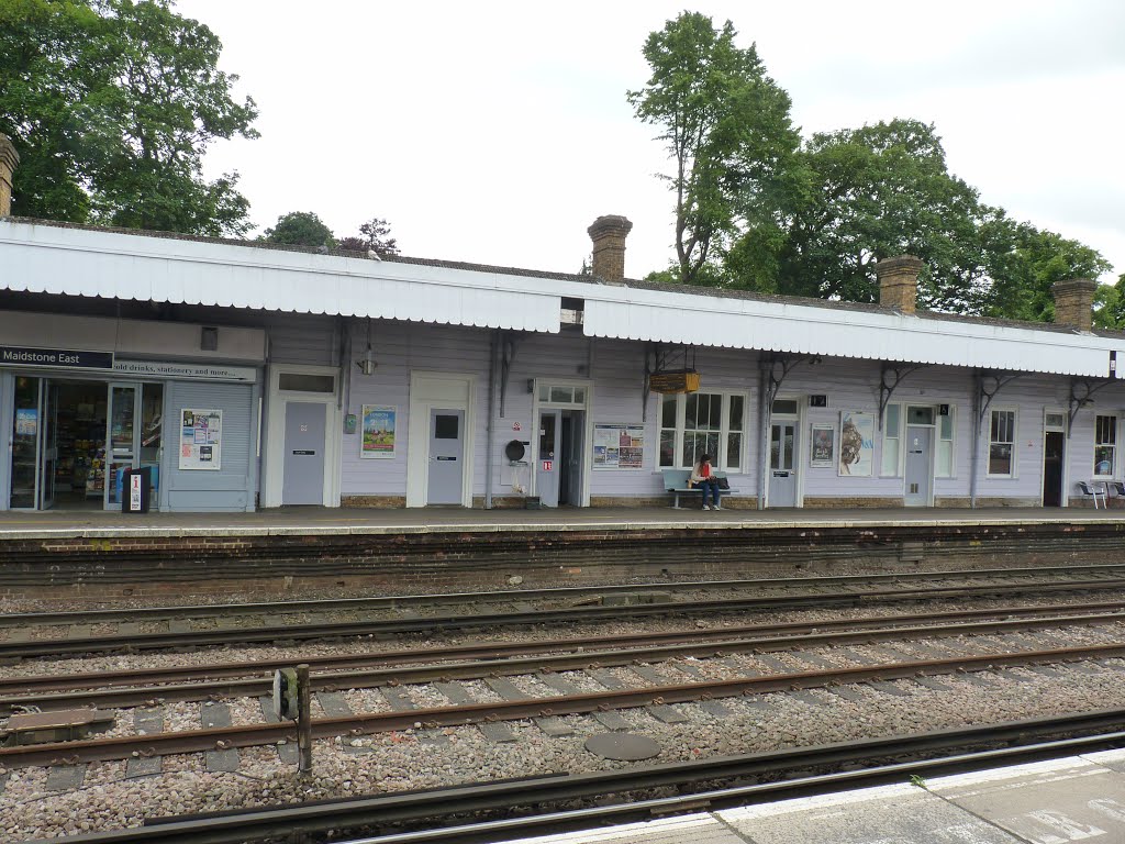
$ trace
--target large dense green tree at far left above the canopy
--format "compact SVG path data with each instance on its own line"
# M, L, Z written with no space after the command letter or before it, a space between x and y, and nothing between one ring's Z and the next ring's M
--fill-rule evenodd
M222 45L171 0L0 0L0 132L20 154L14 213L244 234L236 173L202 176L217 138L256 137Z

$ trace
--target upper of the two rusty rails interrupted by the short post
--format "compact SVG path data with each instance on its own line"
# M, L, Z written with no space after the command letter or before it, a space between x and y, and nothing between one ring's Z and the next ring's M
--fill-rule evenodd
M897 620L896 620L897 621ZM1119 604L1115 612L1097 614L1053 616L1042 618L1005 619L992 621L958 621L946 625L881 627L856 626L856 629L808 631L789 635L759 635L742 639L714 639L716 632L696 636L682 631L682 640L667 645L648 645L614 650L583 650L570 654L538 654L511 656L500 659L480 659L462 663L424 664L382 668L363 668L345 672L323 672L310 677L312 691L334 692L340 689L370 689L381 685L407 685L451 680L480 680L488 676L584 671L593 667L622 666L637 663L658 663L676 657L709 658L724 654L771 653L800 647L903 641L911 638L944 638L951 636L982 636L1014 631L1041 630L1061 626L1094 626L1125 621L1125 610ZM807 627L817 628L816 625ZM692 639L708 639L692 641ZM285 663L292 665L294 661ZM261 671L261 670L260 670ZM140 674L140 672L138 672ZM268 694L272 689L269 676L242 680L223 680L191 684L148 685L135 689L105 691L75 691L47 694L6 694L0 697L0 715L17 708L128 708L155 706L169 701L199 701L222 698L249 698Z

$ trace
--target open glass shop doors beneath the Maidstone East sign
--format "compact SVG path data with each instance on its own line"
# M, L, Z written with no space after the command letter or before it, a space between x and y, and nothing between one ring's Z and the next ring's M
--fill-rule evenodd
M17 376L11 509L116 509L126 469L151 467L158 501L161 384Z

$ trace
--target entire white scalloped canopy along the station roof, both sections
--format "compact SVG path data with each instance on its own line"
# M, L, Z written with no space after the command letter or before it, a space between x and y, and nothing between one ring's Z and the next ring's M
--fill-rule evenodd
M372 316L556 333L562 297L590 336L1099 377L1118 332L450 261L263 248L6 218L12 290Z

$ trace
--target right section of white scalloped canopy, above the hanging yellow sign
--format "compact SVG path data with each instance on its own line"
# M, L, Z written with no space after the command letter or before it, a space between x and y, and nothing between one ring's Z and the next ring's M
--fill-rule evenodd
M588 336L1104 377L1120 339L651 290L586 300ZM1122 356L1125 360L1125 354Z

